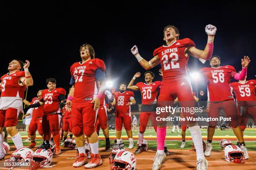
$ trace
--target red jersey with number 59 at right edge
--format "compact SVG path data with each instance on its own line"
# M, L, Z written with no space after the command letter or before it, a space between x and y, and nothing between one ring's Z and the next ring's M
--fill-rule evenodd
M232 82L230 87L233 87L237 101L256 101L255 85L256 80L248 80L244 84Z

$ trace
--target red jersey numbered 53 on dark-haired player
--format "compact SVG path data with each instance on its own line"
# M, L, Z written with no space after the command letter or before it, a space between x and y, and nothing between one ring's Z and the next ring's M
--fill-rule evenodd
M44 89L42 91L42 97L44 100L44 113L62 112L58 105L60 102L58 99L59 95L66 95L66 90L64 88L55 88L51 91L48 89Z

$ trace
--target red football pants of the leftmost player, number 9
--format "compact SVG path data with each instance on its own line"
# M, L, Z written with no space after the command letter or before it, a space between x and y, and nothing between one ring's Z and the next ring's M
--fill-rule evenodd
M6 110L0 110L0 127L16 126L20 110L15 108L7 108Z

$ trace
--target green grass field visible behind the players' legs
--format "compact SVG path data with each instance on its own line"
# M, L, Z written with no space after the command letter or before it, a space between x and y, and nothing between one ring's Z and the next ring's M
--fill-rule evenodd
M181 133L172 133L171 132L172 129L167 129L167 133L166 133L166 136L181 136ZM202 136L207 136L207 129L202 129ZM22 136L27 136L27 133L26 132L20 132L20 134ZM38 135L38 134L37 134ZM110 130L109 131L109 135L110 136L115 136L115 130ZM126 132L125 130L122 130L122 135L126 135ZM190 132L189 130L187 129L186 131L186 136L190 136ZM101 137L104 137L103 133L102 133L102 130L100 130L100 136ZM138 133L134 133L133 134L134 137L138 136ZM145 135L144 136L149 136L149 137L154 137L156 136L156 133L154 131L154 129L147 129L146 132L145 132ZM235 135L233 133L232 130L215 130L215 136L221 136L223 137L223 139L225 139L225 137L234 137L235 138ZM256 129L246 129L245 132L244 132L244 136L245 137L250 137L250 138L255 138L255 141L246 141L246 148L248 150L254 150L256 151ZM36 140L37 142L37 145L42 143L43 140ZM9 144L13 144L13 141L12 140L8 140L8 143ZM114 141L112 140L111 141L111 144L113 145ZM128 147L128 140L124 140L124 143L125 143L125 146ZM134 140L134 144L136 145L137 143L137 140ZM148 140L148 148L149 149L156 149L156 140L152 140L152 141L149 141ZM166 141L166 145L167 147L169 148L169 150L172 150L172 149L182 149L180 148L180 145L181 145L182 141ZM24 143L24 145L29 145L30 143ZM105 140L100 140L99 142L100 144L100 147L105 147ZM236 144L236 141L233 141L233 144ZM213 141L212 142L212 145L213 145L213 149L214 150L221 150L220 149L220 145L219 145L219 141ZM192 147L192 141L186 141L186 147L183 148L183 149L191 149Z

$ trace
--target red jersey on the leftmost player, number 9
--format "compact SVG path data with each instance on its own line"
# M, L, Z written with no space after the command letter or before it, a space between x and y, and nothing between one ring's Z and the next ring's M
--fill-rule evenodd
M20 77L25 77L24 71L16 71L13 74L5 74L1 77L1 97L20 97L24 98L26 85L20 86Z

